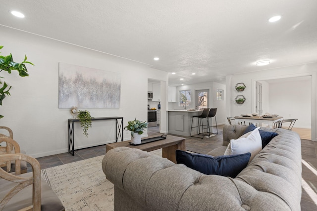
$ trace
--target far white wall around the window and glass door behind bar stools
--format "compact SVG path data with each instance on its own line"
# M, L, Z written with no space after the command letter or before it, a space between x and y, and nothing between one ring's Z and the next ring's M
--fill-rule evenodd
M178 106L178 99L179 99L179 91L180 90L191 90L192 91L192 103L190 108L195 108L195 99L196 99L196 90L200 89L209 89L210 91L210 101L209 101L209 107L210 108L217 108L216 118L217 118L217 125L225 124L226 122L226 110L225 110L225 96L226 96L226 85L225 84L219 84L216 82L206 82L206 83L200 83L200 84L189 84L189 85L182 85L177 86L177 102L171 103L169 102L169 109L183 109L183 107ZM223 89L224 90L224 100L217 100L217 89ZM214 124L214 123L213 123Z

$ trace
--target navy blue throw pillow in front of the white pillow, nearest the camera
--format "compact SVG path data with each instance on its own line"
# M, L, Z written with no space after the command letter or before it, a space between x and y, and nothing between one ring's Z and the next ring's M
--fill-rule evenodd
M204 174L216 174L221 176L236 177L240 171L247 167L251 153L241 155L211 155L191 154L176 150L177 164L184 164L188 168Z

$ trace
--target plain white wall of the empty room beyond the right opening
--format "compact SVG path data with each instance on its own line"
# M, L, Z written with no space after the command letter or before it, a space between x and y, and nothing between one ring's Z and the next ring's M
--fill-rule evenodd
M311 81L270 83L269 111L298 119L295 127L311 128Z

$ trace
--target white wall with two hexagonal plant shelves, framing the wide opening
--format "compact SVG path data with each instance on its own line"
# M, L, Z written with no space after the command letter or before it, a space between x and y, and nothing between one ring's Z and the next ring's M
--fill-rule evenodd
M316 72L317 63L267 69L258 72L236 74L226 76L226 114L227 116L238 116L240 114L255 112L255 84L257 81L265 81L270 79L292 78L311 76L311 127L312 127L312 140L316 140L317 131L317 112L316 112ZM246 89L240 92L247 99L244 104L236 104L234 98L238 94L234 87L237 83L244 83ZM280 106L287 106L282 104ZM272 112L271 108L268 108ZM264 111L265 113L266 111ZM295 117L294 117L295 118ZM299 118L298 118L299 119ZM297 123L296 123L297 124Z

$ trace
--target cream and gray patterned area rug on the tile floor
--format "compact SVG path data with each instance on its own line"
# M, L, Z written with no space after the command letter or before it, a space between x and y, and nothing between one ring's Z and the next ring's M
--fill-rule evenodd
M162 150L150 152L162 155ZM113 211L113 184L102 169L104 156L42 169L66 211Z

